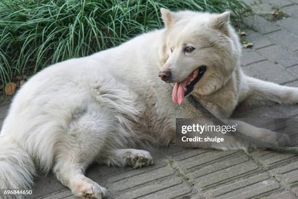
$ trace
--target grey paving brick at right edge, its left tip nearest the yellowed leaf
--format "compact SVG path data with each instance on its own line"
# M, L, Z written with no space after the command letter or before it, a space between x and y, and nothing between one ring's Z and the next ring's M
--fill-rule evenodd
M298 64L298 57L293 52L286 50L279 45L268 46L257 51L269 60L278 62L283 67Z

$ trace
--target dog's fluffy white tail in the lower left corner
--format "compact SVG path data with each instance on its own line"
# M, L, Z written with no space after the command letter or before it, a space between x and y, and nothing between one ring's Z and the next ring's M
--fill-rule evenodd
M0 136L0 189L30 190L35 173L30 155L12 139Z

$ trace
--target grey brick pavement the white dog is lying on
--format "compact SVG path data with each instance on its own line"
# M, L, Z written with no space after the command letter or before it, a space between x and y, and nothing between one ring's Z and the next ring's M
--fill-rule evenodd
M256 12L243 29L252 48L243 49L242 68L250 76L298 87L298 0L244 0ZM289 17L275 22L264 14L280 9ZM9 102L0 104L0 124ZM245 109L234 117L293 117L298 105ZM171 145L153 152L155 164L133 170L93 165L87 176L109 189L110 199L295 199L298 156L269 150L181 149ZM50 174L36 179L34 199L72 199Z

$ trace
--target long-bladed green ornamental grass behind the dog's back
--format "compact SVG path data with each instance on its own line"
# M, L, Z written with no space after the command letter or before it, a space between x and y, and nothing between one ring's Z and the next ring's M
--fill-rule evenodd
M159 8L221 13L240 24L239 0L0 0L0 85L163 26Z

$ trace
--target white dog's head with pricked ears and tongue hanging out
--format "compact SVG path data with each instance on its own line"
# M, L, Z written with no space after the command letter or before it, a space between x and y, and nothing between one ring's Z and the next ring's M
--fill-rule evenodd
M161 9L166 29L160 47L164 64L159 77L175 82L173 101L184 97L210 95L231 78L239 64L241 47L229 25L230 13L209 14Z

